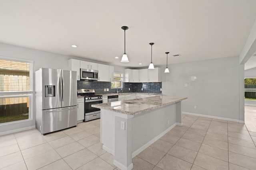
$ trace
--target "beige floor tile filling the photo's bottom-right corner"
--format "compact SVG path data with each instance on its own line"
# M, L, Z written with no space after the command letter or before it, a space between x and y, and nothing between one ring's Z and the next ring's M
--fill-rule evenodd
M251 170L255 169L256 167L255 158L251 158L251 157L237 154L234 152L228 152L228 155L229 155L229 162L232 164L236 164L238 166L242 166L244 168L248 168Z

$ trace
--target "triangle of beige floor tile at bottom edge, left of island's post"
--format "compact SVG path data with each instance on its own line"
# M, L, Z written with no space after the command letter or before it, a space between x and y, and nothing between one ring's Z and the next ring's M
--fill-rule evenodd
M114 167L98 157L77 170L114 170Z

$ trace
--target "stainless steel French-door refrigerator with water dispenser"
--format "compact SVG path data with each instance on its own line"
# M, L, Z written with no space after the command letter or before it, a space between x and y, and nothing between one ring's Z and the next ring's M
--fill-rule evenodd
M40 68L35 83L36 129L44 135L76 126L76 71Z

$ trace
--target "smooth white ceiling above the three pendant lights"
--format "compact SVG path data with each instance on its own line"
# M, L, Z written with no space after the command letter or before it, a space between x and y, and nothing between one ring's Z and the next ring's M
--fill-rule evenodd
M149 65L151 42L155 66L166 64L165 52L168 64L232 57L255 7L255 0L2 0L0 42L130 68ZM120 63L123 25L130 63Z

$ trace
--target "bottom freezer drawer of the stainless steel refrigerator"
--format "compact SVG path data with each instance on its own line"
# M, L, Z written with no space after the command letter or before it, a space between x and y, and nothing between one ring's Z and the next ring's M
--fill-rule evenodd
M77 125L77 107L42 110L41 133L50 133Z

